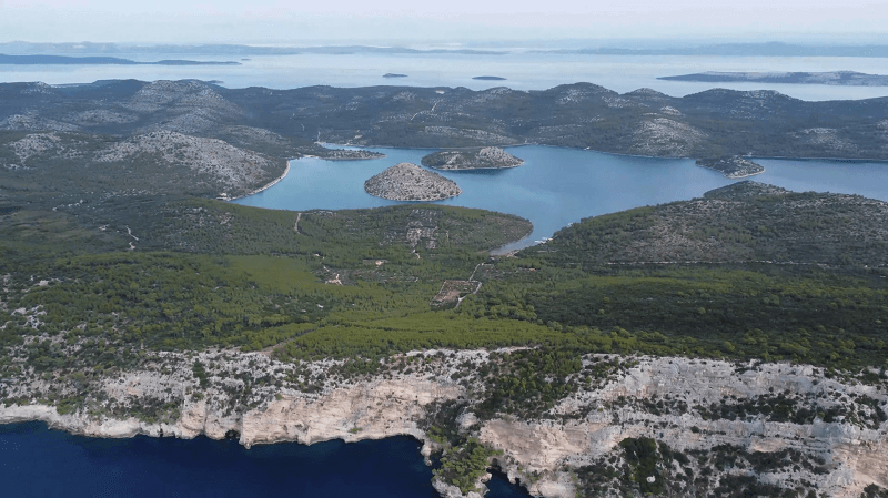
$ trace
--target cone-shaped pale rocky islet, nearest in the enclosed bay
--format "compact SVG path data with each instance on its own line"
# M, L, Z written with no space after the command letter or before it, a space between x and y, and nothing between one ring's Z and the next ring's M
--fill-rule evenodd
M413 163L398 163L370 177L364 191L390 201L441 201L463 192L452 180Z

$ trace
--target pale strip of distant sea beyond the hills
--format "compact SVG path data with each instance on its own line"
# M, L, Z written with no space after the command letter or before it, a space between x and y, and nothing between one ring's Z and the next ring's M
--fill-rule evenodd
M80 54L79 54L80 55ZM99 54L107 55L107 54ZM684 96L712 88L776 90L796 99L856 100L888 95L888 87L837 87L777 83L705 83L664 81L658 77L704 71L783 72L858 71L888 74L888 58L823 57L703 57L703 55L593 55L515 51L502 55L462 53L354 53L296 55L205 55L188 53L114 53L114 57L150 62L164 59L238 61L242 65L11 65L0 64L0 81L42 81L49 84L91 83L95 80L216 80L226 88L265 87L292 89L331 87L465 87L484 90L546 90L559 84L589 82L619 93L650 88ZM241 60L249 59L249 60ZM407 78L383 78L386 73ZM505 81L472 78L496 75Z

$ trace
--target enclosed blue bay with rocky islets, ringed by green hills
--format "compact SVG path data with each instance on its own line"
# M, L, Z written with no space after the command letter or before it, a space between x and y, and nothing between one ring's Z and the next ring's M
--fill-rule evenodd
M274 186L234 201L275 210L342 210L400 204L364 192L364 181L400 162L420 164L434 150L379 149L386 154L365 161L325 161L303 157ZM542 145L506 148L523 159L518 167L483 171L437 171L463 190L438 201L526 217L534 224L525 240L496 253L533 245L559 228L588 216L644 205L689 200L728 185L720 173L699 167L689 159L656 159L606 154ZM860 194L888 201L888 165L878 162L820 160L756 160L765 173L749 180L791 191ZM403 204L403 203L401 203Z

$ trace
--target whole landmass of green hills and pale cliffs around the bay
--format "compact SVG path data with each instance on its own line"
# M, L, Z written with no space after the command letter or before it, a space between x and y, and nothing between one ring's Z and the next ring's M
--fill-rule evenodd
M370 156L319 139L884 154L886 102L2 84L0 423L245 446L410 435L448 496L492 467L547 498L886 494L884 202L739 182L492 257L531 224L214 199L287 157Z

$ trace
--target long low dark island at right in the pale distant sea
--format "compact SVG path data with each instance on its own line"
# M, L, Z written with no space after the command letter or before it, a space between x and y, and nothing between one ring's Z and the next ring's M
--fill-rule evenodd
M677 77L660 77L658 80L703 81L707 83L755 82L788 84L831 84L847 87L888 87L888 77L855 71L830 72L718 72L707 71Z

